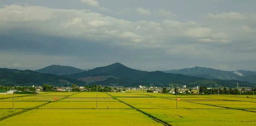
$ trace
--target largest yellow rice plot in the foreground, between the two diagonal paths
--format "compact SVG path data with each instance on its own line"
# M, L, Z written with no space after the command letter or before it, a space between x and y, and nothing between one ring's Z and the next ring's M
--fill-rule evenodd
M34 109L2 126L163 126L133 109Z

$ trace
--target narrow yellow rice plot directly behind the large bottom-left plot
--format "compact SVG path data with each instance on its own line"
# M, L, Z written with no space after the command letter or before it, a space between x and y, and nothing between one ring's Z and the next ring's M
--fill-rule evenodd
M96 109L96 102L54 102L42 109ZM98 102L98 109L131 109L131 107L120 102Z

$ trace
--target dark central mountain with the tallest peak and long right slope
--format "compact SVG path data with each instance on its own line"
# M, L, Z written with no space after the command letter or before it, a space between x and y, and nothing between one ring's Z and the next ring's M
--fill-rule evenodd
M81 79L86 78L86 82L90 81L92 83L98 83L102 85L108 85L111 83L117 83L118 85L125 85L125 86L137 86L137 85L150 85L154 84L154 86L161 86L161 85L169 85L169 84L189 84L196 86L200 85L208 85L208 84L215 84L218 85L228 85L232 83L236 85L237 82L241 84L245 84L247 82L231 82L231 81L224 81L224 80L209 80L203 77L191 77L182 74L172 74L172 73L165 73L160 71L155 72L145 72L140 70L135 70L128 68L127 66L122 65L121 63L114 63L109 66L98 67L95 69L88 70L86 72L76 73L69 75L70 77ZM104 80L95 80L90 78L97 78L104 76ZM111 77L113 76L113 77ZM106 78L109 77L109 78ZM95 82L93 82L95 81ZM231 85L230 85L231 86Z

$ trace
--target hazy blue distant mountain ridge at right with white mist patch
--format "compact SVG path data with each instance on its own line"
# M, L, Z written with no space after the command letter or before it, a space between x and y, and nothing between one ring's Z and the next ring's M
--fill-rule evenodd
M195 66L193 68L173 69L163 71L166 73L183 74L193 77L204 77L207 79L220 79L220 80L240 80L256 83L256 72L237 70L237 71L222 71L218 69L211 69L205 67Z

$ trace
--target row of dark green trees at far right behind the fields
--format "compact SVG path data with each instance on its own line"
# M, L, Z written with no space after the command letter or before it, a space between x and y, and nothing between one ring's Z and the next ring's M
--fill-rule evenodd
M203 86L203 87L200 87L199 88L199 93L202 94L247 94L247 95L250 95L250 94L253 94L253 91L254 91L254 94L256 93L256 88L253 90L253 88L251 90L245 90L244 88L242 88L241 90L240 89L231 89L231 88L226 88L224 87L223 89L221 88L217 88L217 89L207 89L206 86Z

